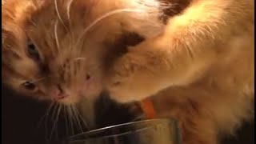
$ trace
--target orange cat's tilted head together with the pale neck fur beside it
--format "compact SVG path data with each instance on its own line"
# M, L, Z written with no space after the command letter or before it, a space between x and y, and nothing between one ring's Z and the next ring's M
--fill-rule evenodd
M2 82L64 103L98 95L107 61L127 46L118 38L159 34L161 7L157 0L2 0Z

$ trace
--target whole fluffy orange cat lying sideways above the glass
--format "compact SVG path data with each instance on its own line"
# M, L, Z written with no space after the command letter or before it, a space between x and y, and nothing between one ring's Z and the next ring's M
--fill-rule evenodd
M105 87L118 102L152 96L183 143L215 144L254 104L254 1L190 0L166 18L172 2L2 1L2 81L80 109ZM123 54L109 45L126 32L145 41Z

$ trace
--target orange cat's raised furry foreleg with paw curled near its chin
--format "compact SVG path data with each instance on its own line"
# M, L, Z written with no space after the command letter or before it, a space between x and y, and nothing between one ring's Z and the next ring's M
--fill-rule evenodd
M130 48L114 63L108 84L111 97L128 102L194 82L221 51L216 43L225 42L239 22L247 21L248 3L191 2L183 14L170 18L164 33Z

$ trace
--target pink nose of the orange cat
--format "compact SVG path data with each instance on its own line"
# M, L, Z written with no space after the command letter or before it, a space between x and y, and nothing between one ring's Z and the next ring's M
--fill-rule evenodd
M60 85L51 86L49 94L51 98L57 101L66 98L66 94L63 92L62 86Z

